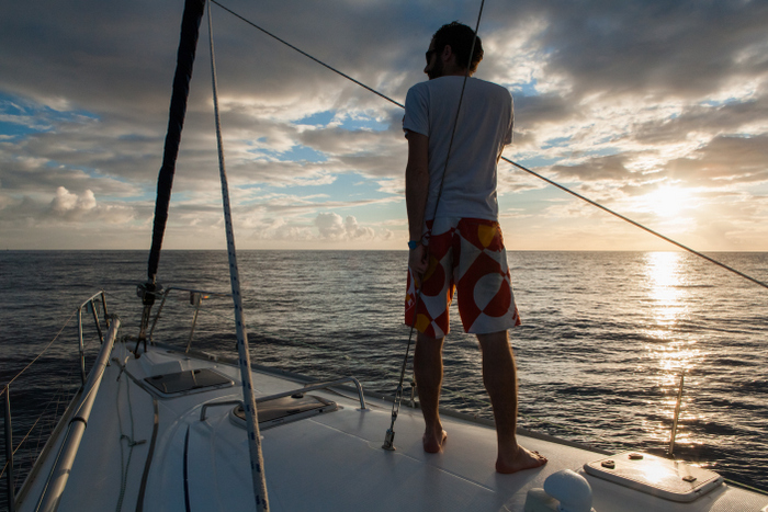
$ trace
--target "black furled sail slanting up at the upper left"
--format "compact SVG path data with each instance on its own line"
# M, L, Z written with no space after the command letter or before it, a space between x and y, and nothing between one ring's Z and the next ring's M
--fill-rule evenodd
M194 55L197 48L197 35L200 34L200 21L203 18L204 8L205 0L187 0L184 3L184 14L181 20L181 37L179 41L179 53L177 55L176 76L173 77L173 92L171 94L171 106L168 117L168 132L166 134L166 146L162 153L162 167L157 178L153 247L149 252L149 268L147 270L147 278L149 280L147 285L151 288L155 287L157 268L160 262L160 249L162 248L162 237L166 232L166 223L168 220L168 207L171 200L171 187L173 186L176 159L179 155L181 129L184 126L187 99L190 92L190 79L192 78Z

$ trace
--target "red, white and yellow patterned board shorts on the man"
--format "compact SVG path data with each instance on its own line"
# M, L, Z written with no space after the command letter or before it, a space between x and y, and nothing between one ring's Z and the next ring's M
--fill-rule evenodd
M405 321L430 338L450 331L454 289L464 331L485 334L520 325L501 228L494 220L438 218L427 223L429 264L419 283L408 269ZM417 298L418 289L421 295ZM417 304L418 303L418 304Z

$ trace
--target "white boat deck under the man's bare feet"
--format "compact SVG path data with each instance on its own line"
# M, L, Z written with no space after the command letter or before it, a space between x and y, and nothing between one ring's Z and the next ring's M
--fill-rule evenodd
M234 406L211 407L207 418L200 420L203 403L241 398L238 371L159 349L136 360L121 343L115 344L113 356L127 362L126 369L118 382L120 365L113 362L108 368L59 510L117 510L123 478L122 510L255 510L246 431L230 419ZM137 385L173 368L201 367L227 375L235 386L168 398ZM126 373L133 377L129 405ZM253 380L257 396L302 387L257 372ZM692 503L666 501L585 475L585 463L605 457L599 453L531 437L521 437L521 444L544 454L549 464L499 475L494 469L493 429L444 418L449 433L444 453L426 454L421 414L406 407L395 424L397 450L387 452L381 446L391 422L389 403L368 398L368 409L360 410L352 394L345 392L349 395L345 397L324 390L312 395L336 401L339 410L262 431L272 511L522 511L528 490L543 487L547 476L565 468L586 476L596 512L741 512L768 505L768 497L724 485ZM121 458L121 435L145 441L134 446L125 476L128 448L124 439ZM37 478L37 489L20 496L23 501L18 510L34 510L33 497L39 494L44 480Z

